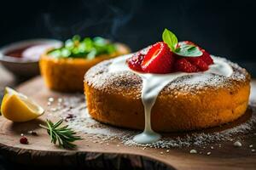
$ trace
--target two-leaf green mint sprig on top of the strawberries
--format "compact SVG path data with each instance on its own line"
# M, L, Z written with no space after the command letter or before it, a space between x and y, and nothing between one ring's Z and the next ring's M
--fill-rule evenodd
M195 45L185 44L182 42L177 42L177 37L172 31L165 29L162 34L163 41L166 42L172 52L184 56L184 57L199 57L202 55L201 50Z

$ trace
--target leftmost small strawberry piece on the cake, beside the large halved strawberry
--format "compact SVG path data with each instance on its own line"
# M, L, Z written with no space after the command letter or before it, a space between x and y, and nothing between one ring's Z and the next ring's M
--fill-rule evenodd
M132 55L131 58L127 59L127 63L129 67L134 71L143 71L142 62L144 59L144 55L139 51L136 54Z

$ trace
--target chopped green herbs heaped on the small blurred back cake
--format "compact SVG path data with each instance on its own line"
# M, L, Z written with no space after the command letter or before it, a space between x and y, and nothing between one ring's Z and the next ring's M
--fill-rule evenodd
M94 59L100 54L113 54L116 45L102 37L85 37L81 39L78 35L68 39L63 47L49 51L49 55L55 58L84 58Z

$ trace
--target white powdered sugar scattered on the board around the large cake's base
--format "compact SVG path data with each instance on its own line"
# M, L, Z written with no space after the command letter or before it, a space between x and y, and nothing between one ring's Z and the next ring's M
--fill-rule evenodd
M134 142L132 138L138 131L112 127L102 124L101 122L96 122L88 114L84 95L81 94L63 98L60 105L58 104L57 107L49 106L47 112L49 113L49 118L56 116L65 119L70 127L78 132L84 133L84 135L90 136L90 139L93 139L95 143L108 143L113 139L117 139L119 142L128 146L137 145L153 148L171 148L201 146L217 141L235 141L238 138L237 134L252 133L253 128L256 127L256 102L251 102L250 105L252 116L250 116L246 122L235 127L224 128L224 130L218 130L218 132L213 130L213 132L195 131L191 133L163 134L164 137L153 144L137 144ZM55 112L50 111L52 108L55 108ZM72 118L67 119L70 114L73 115ZM225 126L229 125L224 125L223 127ZM241 135L239 138L241 138Z

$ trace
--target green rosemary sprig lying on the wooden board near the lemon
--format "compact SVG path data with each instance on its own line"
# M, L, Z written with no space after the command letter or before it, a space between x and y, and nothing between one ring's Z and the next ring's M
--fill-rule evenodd
M55 123L46 120L47 126L41 124L39 126L47 130L51 143L57 143L61 148L73 149L76 147L76 144L73 144L73 142L75 140L81 140L82 138L76 136L76 133L72 128L68 127L68 125L60 127L62 122L62 119Z

